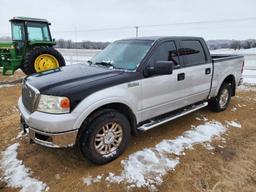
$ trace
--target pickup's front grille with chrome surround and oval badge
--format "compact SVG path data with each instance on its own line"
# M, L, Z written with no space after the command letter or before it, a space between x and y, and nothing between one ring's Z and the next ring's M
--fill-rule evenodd
M38 95L39 91L29 84L24 83L22 85L22 102L30 113L34 111Z

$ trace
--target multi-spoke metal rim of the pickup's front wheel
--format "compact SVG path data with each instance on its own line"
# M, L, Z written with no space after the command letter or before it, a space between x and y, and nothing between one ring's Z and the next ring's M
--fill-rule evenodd
M116 122L106 123L94 139L94 147L101 155L108 155L118 149L123 139L123 129Z

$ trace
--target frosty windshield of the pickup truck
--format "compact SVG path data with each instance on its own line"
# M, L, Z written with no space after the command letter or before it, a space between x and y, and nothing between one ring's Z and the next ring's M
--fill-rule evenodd
M115 69L134 70L150 49L153 41L121 40L111 43L90 61Z

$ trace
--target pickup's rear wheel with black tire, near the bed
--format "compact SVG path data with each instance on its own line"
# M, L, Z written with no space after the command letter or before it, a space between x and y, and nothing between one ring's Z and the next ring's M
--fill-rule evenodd
M221 112L227 109L231 99L231 86L223 83L218 95L209 101L210 107L215 112Z

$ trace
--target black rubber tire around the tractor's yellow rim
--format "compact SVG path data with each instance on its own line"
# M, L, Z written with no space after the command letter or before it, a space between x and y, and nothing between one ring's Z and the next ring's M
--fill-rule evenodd
M23 65L21 66L22 71L26 75L31 75L31 74L37 73L36 67L35 67L35 61L40 55L44 55L44 54L49 55L50 57L57 60L58 66L56 66L56 68L66 65L63 56L53 47L37 46L37 47L34 47L33 49L31 49L25 55ZM50 70L50 69L54 69L54 67L49 68L47 70ZM43 71L44 71L44 69L42 69L40 72L43 72Z

